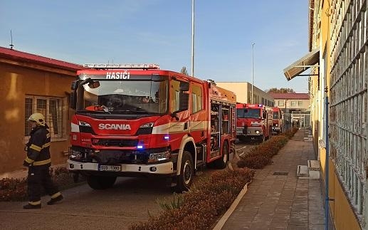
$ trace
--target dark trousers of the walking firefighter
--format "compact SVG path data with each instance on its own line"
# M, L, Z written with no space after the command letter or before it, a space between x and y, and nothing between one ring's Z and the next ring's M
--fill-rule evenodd
M48 166L31 166L28 167L28 201L39 202L41 201L41 193L44 191L53 196L57 194L58 187L53 183L51 179L50 170ZM42 189L43 188L43 189Z

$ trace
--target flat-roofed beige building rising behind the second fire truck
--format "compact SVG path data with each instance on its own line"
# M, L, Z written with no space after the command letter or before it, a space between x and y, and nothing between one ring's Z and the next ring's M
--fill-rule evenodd
M238 103L252 103L252 84L247 82L216 82L221 88L231 90L236 94ZM273 98L263 90L253 85L253 104L273 106Z

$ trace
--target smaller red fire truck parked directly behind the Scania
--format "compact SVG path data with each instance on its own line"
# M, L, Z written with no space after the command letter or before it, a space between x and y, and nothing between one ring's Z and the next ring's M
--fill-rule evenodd
M236 105L236 137L241 141L270 138L272 108L261 104Z

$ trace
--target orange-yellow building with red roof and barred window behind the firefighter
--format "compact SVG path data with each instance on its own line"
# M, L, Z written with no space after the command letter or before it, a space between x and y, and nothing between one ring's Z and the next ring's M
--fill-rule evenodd
M43 113L51 131L51 160L65 163L70 118L68 95L76 70L82 68L51 58L0 47L0 178L20 170L26 157L32 113Z

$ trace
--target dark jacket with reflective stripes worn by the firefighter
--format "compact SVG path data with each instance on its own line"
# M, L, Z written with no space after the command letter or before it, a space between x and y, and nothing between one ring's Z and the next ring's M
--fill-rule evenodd
M25 147L27 157L23 162L24 166L51 166L51 136L47 128L47 125L37 126L31 131L31 137Z

